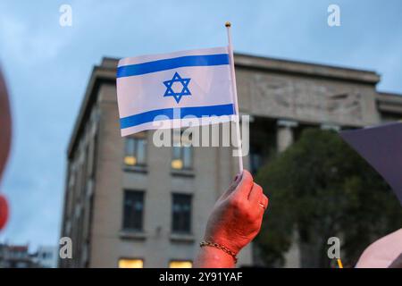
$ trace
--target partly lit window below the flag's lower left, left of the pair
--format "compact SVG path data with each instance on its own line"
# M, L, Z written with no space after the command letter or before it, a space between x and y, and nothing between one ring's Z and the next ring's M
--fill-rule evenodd
M125 139L124 164L144 166L147 160L147 133L139 132Z

